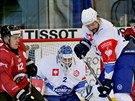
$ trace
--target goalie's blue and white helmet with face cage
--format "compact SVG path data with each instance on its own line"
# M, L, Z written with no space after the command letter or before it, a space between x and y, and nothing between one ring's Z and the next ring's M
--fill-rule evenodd
M73 51L70 46L63 45L58 50L57 54L58 63L66 69L70 68L72 65Z

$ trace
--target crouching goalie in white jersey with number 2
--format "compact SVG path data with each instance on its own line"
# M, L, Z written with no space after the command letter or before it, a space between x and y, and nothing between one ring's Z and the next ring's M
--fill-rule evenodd
M73 56L68 45L61 46L55 55L43 57L38 63L37 75L45 79L44 96L48 101L80 101L76 92L86 101L91 96L85 64Z

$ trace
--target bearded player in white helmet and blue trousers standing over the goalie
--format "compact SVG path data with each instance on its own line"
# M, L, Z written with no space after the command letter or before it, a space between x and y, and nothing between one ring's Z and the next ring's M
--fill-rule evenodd
M104 71L99 77L103 86L97 88L99 96L107 97L113 89L117 101L132 101L135 45L126 41L111 22L99 17L92 8L82 11L81 21L85 37L74 47L74 51L81 59L92 47L103 60Z

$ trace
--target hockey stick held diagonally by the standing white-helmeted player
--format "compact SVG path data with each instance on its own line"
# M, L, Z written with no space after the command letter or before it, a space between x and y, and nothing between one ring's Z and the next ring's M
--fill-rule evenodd
M99 81L97 75L95 74L95 72L94 72L94 70L92 69L92 67L88 64L88 62L87 62L87 60L85 59L85 57L84 57L83 55L82 55L81 57L82 57L84 63L86 64L86 66L89 68L89 70L90 70L91 73L93 74L93 76L94 76L94 78L96 79L97 83L98 83L101 87L103 87L102 83ZM107 98L108 98L109 101L112 101L112 99L111 99L111 97L110 97L109 95L107 95Z

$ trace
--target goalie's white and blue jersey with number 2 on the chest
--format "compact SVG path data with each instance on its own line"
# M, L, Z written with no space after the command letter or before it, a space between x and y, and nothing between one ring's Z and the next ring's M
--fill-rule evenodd
M85 64L73 59L72 66L65 70L57 63L56 55L46 56L38 63L38 76L45 79L45 95L61 96L73 90L80 92L87 85Z

